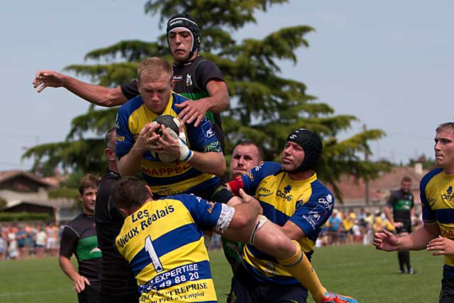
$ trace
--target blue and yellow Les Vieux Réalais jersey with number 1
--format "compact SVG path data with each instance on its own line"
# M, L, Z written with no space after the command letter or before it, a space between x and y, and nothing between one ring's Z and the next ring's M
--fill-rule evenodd
M178 194L150 200L125 219L115 244L131 264L140 302L216 302L202 230L223 224L226 209Z

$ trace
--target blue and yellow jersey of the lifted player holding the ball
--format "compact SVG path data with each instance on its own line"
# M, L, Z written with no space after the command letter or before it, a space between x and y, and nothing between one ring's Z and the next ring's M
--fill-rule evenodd
M182 109L177 109L175 104L187 101L186 98L172 92L169 103L162 114L178 116ZM116 117L116 155L118 158L129 153L135 139L145 124L150 123L158 116L147 109L142 97L138 96L127 101L118 110ZM204 118L196 128L194 124L185 124L187 144L192 150L199 152L221 152L221 145L214 136L214 130L208 119ZM183 192L196 192L199 189L214 186L219 182L219 177L202 173L186 162L164 163L153 158L148 151L143 154L140 163L143 179L148 183L155 194L168 196Z

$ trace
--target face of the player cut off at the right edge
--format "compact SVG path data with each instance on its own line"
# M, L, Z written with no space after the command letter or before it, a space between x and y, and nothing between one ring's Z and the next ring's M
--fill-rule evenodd
M446 173L454 174L454 132L441 131L436 134L435 160Z

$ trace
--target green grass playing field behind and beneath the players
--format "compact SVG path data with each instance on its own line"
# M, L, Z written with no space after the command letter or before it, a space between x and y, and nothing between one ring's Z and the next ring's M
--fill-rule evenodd
M372 246L317 248L314 257L314 268L328 290L362 303L438 302L443 258L411 252L411 263L418 273L399 275L396 253ZM211 252L211 267L218 301L225 302L231 271L222 251ZM0 302L77 302L77 297L57 258L1 260Z

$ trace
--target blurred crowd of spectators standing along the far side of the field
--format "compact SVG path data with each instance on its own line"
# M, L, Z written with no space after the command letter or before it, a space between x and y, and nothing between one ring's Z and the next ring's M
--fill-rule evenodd
M414 217L414 226L421 225L421 219ZM63 225L43 222L0 223L0 260L26 259L57 256ZM323 226L316 246L358 244L370 245L373 234L386 228L394 231L394 226L384 216L381 209L375 211L343 211L334 209L333 215ZM214 239L211 249L221 248Z

